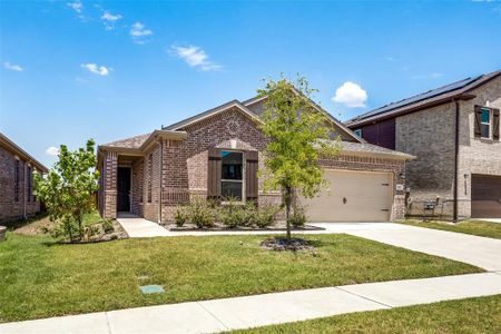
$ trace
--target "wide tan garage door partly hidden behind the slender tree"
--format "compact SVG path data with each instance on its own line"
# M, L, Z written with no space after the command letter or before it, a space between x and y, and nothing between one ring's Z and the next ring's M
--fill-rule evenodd
M325 169L328 189L302 198L308 222L387 222L392 207L392 175Z

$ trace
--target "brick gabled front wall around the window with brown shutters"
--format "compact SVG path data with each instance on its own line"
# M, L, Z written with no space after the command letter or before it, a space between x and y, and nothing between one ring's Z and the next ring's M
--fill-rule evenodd
M207 196L207 151L212 147L263 150L265 138L254 120L230 109L186 127L185 141L164 143L163 220L174 218L175 207L195 196ZM259 165L262 157L259 155ZM277 202L279 194L265 194L259 181L259 202Z

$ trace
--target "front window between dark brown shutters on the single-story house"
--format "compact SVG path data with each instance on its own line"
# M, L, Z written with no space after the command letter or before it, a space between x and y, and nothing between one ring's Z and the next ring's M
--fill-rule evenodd
M244 154L223 150L220 157L220 195L223 199L235 198L236 200L242 200L244 191Z

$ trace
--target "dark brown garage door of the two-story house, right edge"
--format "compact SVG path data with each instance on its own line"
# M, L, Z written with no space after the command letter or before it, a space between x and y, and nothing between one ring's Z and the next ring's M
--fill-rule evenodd
M501 218L501 176L472 175L471 216Z

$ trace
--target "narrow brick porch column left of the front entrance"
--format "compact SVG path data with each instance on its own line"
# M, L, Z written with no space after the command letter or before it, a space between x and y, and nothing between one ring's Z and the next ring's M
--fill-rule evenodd
M118 154L107 151L104 159L105 218L117 218L117 167Z

